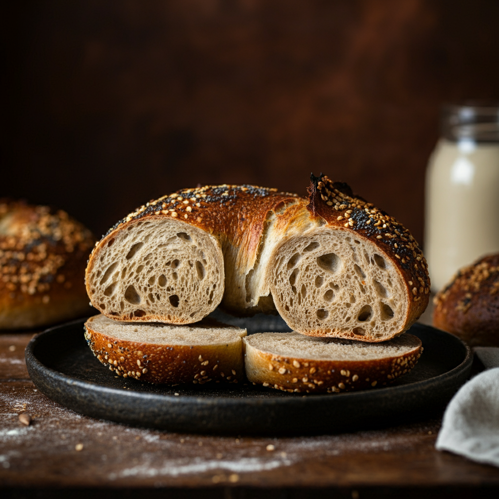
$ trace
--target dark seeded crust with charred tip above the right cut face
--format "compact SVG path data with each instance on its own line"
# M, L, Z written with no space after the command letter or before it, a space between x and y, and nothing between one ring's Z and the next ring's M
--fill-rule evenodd
M307 208L328 225L361 234L384 250L412 297L408 322L413 324L428 306L430 276L423 252L411 233L386 212L354 195L348 184L332 182L325 175L312 175Z

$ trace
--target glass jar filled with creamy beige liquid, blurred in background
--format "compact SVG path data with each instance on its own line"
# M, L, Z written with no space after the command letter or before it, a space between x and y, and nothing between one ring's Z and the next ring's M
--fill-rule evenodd
M499 107L447 106L426 177L425 256L438 291L499 252Z

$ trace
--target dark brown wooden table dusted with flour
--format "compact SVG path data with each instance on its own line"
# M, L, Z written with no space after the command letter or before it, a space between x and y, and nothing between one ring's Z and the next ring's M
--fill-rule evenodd
M2 497L88 497L90 489L106 498L165 497L165 489L169 498L499 497L498 468L435 450L441 414L285 438L183 435L81 416L29 379L32 336L0 333Z

